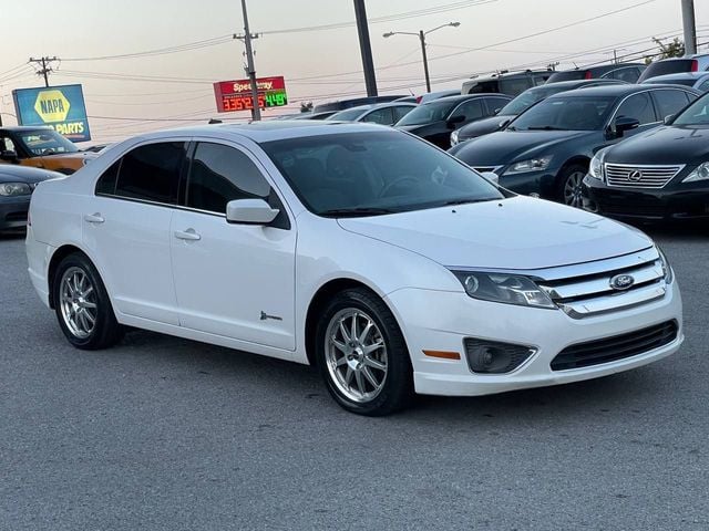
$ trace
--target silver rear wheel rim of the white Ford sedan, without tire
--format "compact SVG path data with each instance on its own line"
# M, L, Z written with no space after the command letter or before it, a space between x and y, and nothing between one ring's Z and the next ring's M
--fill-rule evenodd
M86 272L76 267L64 271L59 285L60 310L69 331L80 340L91 335L96 325L96 293Z

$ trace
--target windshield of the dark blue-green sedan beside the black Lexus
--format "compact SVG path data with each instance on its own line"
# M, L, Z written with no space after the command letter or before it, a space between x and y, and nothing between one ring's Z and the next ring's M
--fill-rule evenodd
M597 131L613 110L615 96L549 97L520 115L511 131Z

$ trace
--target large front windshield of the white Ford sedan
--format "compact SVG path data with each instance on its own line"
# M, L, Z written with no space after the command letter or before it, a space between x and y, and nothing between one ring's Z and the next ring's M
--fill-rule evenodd
M319 216L376 216L506 197L458 159L401 132L308 136L261 147Z

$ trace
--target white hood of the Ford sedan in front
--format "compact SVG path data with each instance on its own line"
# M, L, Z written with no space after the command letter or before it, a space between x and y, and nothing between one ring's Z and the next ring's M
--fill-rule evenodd
M528 270L647 249L637 229L555 202L510 199L339 219L350 232L408 249L445 267Z

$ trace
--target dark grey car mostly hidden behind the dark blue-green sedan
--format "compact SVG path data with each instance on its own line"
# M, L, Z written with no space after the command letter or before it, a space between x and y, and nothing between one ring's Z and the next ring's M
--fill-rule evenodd
M558 83L545 84L527 88L517 97L507 103L504 107L495 110L495 115L490 118L479 119L472 124L467 124L460 129L451 133L451 146L455 146L461 142L477 138L479 136L504 129L517 115L524 113L527 108L545 97L564 91L573 91L589 86L603 86L623 83L615 80L579 80L579 81L561 81Z

